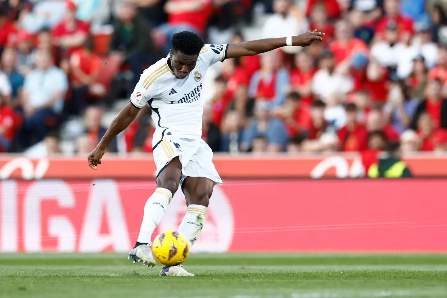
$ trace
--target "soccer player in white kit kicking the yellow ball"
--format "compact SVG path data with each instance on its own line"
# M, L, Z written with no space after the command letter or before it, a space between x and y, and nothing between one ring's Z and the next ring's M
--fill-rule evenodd
M151 235L179 184L188 206L178 231L197 240L205 221L214 185L222 180L211 159L213 153L201 139L203 99L200 92L207 68L228 58L252 56L283 46L309 46L322 41L324 33L309 31L287 38L266 38L237 44L204 44L197 34L182 31L174 34L169 55L143 71L129 103L110 124L97 147L90 153L89 166L97 169L105 148L135 119L139 109L149 105L156 125L153 154L156 164L155 192L144 206L143 222L129 259L155 265ZM166 266L161 276L194 276L183 266Z

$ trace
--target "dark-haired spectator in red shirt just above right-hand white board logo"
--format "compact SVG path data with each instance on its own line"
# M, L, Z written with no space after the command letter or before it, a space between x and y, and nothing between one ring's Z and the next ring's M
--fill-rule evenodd
M368 130L357 121L357 107L346 104L346 126L338 130L341 151L363 151L368 147Z

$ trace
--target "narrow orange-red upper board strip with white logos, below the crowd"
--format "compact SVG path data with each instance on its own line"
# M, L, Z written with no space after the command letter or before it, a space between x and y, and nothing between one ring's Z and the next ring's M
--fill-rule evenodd
M447 155L418 154L405 161L415 176L447 177ZM213 162L223 178L356 178L363 176L358 154L321 155L215 155ZM152 155L105 155L98 169L84 157L29 159L0 155L0 179L154 179Z

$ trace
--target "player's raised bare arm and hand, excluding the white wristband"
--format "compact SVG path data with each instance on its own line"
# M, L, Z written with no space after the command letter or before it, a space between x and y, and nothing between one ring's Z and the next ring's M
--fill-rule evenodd
M325 35L323 32L316 32L316 30L313 30L297 36L292 36L291 46L310 46L312 42L316 40L320 42L323 41L323 39L320 37L323 35ZM285 37L266 38L251 40L242 43L233 43L228 45L226 58L253 56L275 50L283 46L287 46L287 38Z

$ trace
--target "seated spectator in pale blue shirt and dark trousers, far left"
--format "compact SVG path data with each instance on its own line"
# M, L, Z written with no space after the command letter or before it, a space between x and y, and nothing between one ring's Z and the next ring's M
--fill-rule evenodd
M68 81L60 68L51 65L51 54L46 50L38 51L36 66L25 77L24 127L33 131L37 141L41 141L47 126L55 125L62 112Z

